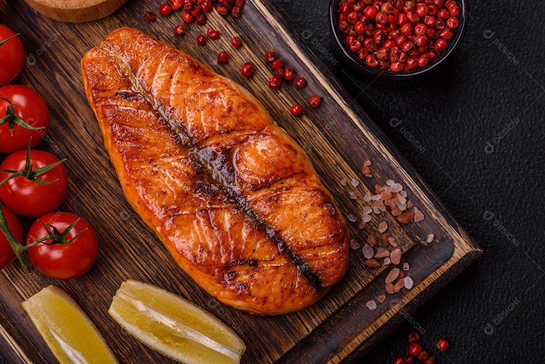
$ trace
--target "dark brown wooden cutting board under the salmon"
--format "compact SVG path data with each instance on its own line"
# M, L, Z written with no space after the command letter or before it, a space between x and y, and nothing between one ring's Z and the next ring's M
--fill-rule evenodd
M51 110L47 141L39 148L68 158L70 191L61 209L80 214L95 227L100 252L93 268L71 281L51 280L41 274L25 275L17 263L0 272L0 350L14 363L54 362L45 343L21 308L21 302L48 284L66 290L99 327L121 363L169 363L171 360L148 349L108 316L112 296L128 278L156 284L196 302L223 320L245 341L243 362L255 363L352 363L404 320L407 313L429 298L467 267L480 248L453 220L438 197L408 165L384 134L353 101L326 65L314 56L278 11L267 1L251 0L240 18L209 16L207 26L189 25L184 37L173 28L179 13L148 23L146 10L157 11L155 1L129 2L116 13L82 24L60 23L36 14L22 2L2 8L7 25L21 33L27 64L18 83L40 92ZM17 14L8 17L7 14ZM324 14L326 16L326 14ZM33 19L28 22L27 19ZM384 293L390 267L368 268L361 249L351 252L346 277L318 304L304 311L278 317L252 317L222 306L181 271L158 239L138 219L125 201L108 156L102 146L98 124L84 95L80 59L91 47L122 26L141 29L181 50L214 70L246 86L308 152L310 159L333 193L343 213L361 216L366 192L375 184L392 179L401 183L408 197L426 216L419 223L403 226L390 213L374 215L364 229L349 222L352 238L364 244L387 221L389 232L404 251L407 274L414 287L388 295L374 311L366 302ZM220 29L222 37L197 46L196 35L206 27ZM233 35L243 38L239 50L229 44ZM226 65L216 64L216 54L228 50ZM305 88L284 83L280 90L267 86L270 65L263 60L267 50L277 51L296 74L307 80ZM252 78L241 75L241 65L256 64ZM311 95L322 96L315 110L307 106ZM305 116L293 118L289 106L305 105ZM372 178L364 177L365 160L372 161ZM340 181L355 178L357 187ZM356 199L349 197L355 193ZM31 221L25 221L27 226ZM426 236L434 234L431 244Z

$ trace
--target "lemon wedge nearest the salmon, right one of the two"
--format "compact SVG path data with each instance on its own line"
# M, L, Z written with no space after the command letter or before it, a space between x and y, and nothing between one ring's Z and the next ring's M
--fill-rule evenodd
M201 307L147 283L123 282L110 311L132 336L186 364L238 364L243 341Z

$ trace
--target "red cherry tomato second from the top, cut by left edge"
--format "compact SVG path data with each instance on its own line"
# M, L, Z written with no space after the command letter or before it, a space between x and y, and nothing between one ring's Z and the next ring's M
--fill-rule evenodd
M23 122L34 126L34 128L44 128L30 130L15 125L12 135L8 124L0 125L0 153L10 154L27 149L31 138L31 148L34 148L44 138L49 126L49 108L47 108L44 98L32 88L20 84L0 87L0 96L13 102L15 114ZM8 106L7 101L0 99L0 118L5 116Z

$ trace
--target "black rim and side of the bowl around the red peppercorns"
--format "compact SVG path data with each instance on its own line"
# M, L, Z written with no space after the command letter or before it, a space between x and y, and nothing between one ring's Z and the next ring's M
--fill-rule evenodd
M442 52L439 58L432 60L425 68L417 68L409 72L392 72L390 70L380 70L379 68L373 68L368 66L364 61L358 58L358 54L350 51L346 41L344 41L344 34L341 29L338 28L339 14L337 14L337 9L339 6L340 0L330 0L329 3L329 27L333 38L335 38L335 43L341 50L344 57L346 57L350 63L356 66L361 71L364 71L366 74L384 78L385 80L412 80L413 78L423 76L427 72L431 72L433 69L437 68L441 63L443 63L451 54L456 50L458 45L462 43L462 39L465 34L465 29L468 26L468 2L467 0L456 0L456 3L460 7L460 16L458 17L459 26L455 30L454 38L449 41L449 46L444 52Z

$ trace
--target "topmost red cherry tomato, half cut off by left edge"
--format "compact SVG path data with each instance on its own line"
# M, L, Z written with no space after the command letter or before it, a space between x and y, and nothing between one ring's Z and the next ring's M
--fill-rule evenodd
M13 37L15 32L0 25L0 42ZM25 50L19 37L11 38L0 47L0 86L10 83L19 75L25 63Z

